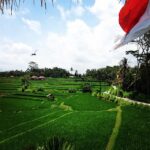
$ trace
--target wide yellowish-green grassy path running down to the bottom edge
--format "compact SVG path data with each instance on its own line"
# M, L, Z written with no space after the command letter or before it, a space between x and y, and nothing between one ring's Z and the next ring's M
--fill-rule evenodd
M120 129L120 126L121 126L121 122L122 122L121 106L117 106L116 111L117 111L117 115L116 115L115 126L114 126L112 134L109 138L108 144L106 146L106 150L113 150L114 145L116 143L118 133L119 133L119 129Z

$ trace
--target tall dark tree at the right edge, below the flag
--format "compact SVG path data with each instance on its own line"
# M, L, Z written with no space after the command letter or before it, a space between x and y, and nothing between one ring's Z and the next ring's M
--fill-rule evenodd
M133 55L138 62L135 88L139 92L150 95L150 31L133 42L137 44L137 50L126 53Z

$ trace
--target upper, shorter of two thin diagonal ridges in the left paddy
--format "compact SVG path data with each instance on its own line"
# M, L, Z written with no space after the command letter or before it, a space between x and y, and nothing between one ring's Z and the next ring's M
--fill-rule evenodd
M60 112L60 111L57 111L57 112ZM38 118L33 119L33 120L28 120L28 121L25 121L25 122L21 122L21 123L19 123L19 124L13 126L13 127L11 127L11 128L9 128L9 129L7 129L7 130L2 131L1 133L6 132L6 131L10 131L10 130L12 130L12 129L15 129L15 128L20 127L20 126L23 126L23 125L26 125L26 124L28 124L28 123L31 123L31 122L34 122L34 121L37 121L37 120L46 118L46 117L51 116L51 115L53 115L53 114L55 114L55 113L57 113L57 112L52 112L52 113L50 113L50 114L47 114L47 115L38 117Z

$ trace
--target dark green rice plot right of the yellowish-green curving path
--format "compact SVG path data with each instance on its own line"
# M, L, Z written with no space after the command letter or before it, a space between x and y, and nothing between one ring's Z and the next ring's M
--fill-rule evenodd
M149 150L150 110L125 106L122 111L122 125L114 149Z

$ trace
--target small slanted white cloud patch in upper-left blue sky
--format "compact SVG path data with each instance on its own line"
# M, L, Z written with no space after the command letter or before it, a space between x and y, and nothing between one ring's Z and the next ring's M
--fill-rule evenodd
M23 23L32 31L40 34L41 33L41 23L39 21L30 20L22 18Z

